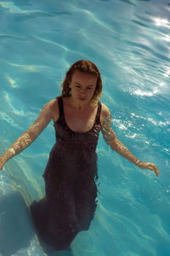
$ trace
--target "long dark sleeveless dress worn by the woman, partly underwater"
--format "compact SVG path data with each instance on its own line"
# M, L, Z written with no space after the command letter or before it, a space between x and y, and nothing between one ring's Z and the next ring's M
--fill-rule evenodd
M90 131L71 131L63 100L58 98L59 119L54 122L56 143L49 154L46 197L31 205L37 233L56 250L69 247L81 230L88 230L96 209L97 154L101 103Z

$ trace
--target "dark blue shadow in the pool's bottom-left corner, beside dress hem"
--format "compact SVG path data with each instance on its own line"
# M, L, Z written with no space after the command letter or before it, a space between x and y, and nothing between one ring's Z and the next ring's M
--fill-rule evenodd
M9 256L30 245L35 235L26 202L19 192L0 199L0 253Z

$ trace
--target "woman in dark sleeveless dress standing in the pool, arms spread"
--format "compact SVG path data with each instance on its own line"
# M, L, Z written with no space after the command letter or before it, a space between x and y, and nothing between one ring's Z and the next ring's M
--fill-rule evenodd
M65 75L62 96L48 102L37 120L0 157L0 170L28 147L54 120L56 143L43 177L46 196L31 205L31 216L43 241L56 250L69 247L81 230L88 230L96 209L97 155L101 130L105 142L118 154L143 169L157 166L136 158L111 129L111 113L99 102L102 81L91 61L77 61Z

